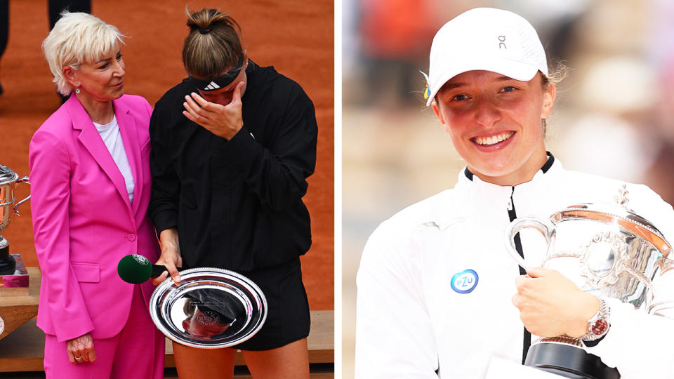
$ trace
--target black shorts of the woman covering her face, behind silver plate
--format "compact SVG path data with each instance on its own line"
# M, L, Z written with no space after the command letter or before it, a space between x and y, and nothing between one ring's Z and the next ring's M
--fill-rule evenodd
M300 258L242 274L255 282L265 294L267 320L256 335L232 348L270 350L309 335L309 301L302 283Z

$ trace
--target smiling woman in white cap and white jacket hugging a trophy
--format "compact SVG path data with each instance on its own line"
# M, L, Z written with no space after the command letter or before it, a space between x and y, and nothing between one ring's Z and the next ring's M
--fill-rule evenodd
M674 240L674 211L651 189L566 171L546 152L557 92L534 27L494 8L458 15L433 39L425 93L466 167L454 188L369 237L357 274L357 378L485 378L494 358L515 370L499 378L527 373L520 363L567 378L671 377L674 356L657 347L674 339L673 314L581 291L557 270L525 271L508 256L505 231L518 216L612 203L623 185L633 210ZM536 237L517 234L514 249L541 257ZM663 272L674 280L674 270ZM666 280L654 293L674 298ZM576 338L577 355L530 359L544 337L557 338L553 348Z

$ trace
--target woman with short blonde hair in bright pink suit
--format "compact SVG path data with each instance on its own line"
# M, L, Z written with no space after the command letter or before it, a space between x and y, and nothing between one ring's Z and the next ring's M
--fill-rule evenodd
M32 220L42 272L37 325L47 378L162 378L164 335L117 263L154 262L147 218L152 107L124 95L122 35L87 13L63 13L42 44L53 81L72 95L30 142Z

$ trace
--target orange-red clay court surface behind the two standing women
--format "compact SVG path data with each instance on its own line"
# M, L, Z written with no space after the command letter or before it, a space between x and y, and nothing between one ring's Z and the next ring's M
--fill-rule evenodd
M316 107L318 161L305 196L312 219L312 248L303 257L303 275L312 310L334 307L334 56L333 2L301 1L93 1L92 13L129 36L122 48L126 93L154 105L185 77L180 51L187 34L185 5L218 8L242 27L244 47L258 65L273 65L297 81ZM28 175L28 145L40 124L60 106L41 53L48 34L47 1L10 0L9 42L0 59L0 164ZM15 196L27 196L19 185ZM17 199L17 201L18 201ZM37 266L30 205L20 207L2 232L10 252Z

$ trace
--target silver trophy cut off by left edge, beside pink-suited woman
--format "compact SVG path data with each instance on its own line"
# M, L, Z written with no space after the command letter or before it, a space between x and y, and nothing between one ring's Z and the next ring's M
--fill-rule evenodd
M19 215L17 209L25 201L30 199L30 195L25 199L14 204L14 188L19 183L28 183L28 177L19 178L19 175L7 166L0 164L0 232L5 230L12 220L13 213ZM11 275L14 273L16 262L12 255L9 255L9 242L0 235L0 275Z

